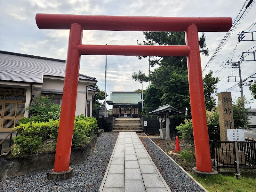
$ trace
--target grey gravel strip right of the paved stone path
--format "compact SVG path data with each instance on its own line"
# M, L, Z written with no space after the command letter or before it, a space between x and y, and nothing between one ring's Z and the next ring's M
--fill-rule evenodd
M204 191L150 139L140 138L172 192Z

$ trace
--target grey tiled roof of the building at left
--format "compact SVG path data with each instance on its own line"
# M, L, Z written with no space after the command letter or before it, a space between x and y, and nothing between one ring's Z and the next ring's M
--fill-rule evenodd
M43 75L65 76L65 60L0 51L0 80L42 83ZM95 77L79 74L79 79Z

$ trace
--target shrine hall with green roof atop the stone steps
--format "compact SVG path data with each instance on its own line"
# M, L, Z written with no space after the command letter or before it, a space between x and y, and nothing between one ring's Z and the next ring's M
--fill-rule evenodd
M113 114L109 116L141 116L142 101L140 92L111 92L110 99L106 101L113 105Z

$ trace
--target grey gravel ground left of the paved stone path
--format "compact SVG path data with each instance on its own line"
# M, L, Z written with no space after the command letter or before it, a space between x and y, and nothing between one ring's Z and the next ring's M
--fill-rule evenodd
M0 181L0 191L99 191L113 152L118 133L104 132L98 137L88 158L71 165L74 176L69 180L51 181L47 171L7 178Z

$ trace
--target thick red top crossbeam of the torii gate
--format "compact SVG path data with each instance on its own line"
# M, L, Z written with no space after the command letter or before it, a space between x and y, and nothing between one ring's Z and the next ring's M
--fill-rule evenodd
M36 24L40 29L70 29L72 23L80 24L84 30L186 31L189 25L195 24L198 31L227 32L232 18L36 14Z

